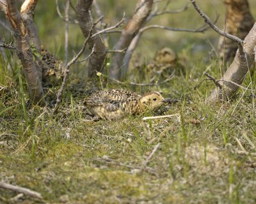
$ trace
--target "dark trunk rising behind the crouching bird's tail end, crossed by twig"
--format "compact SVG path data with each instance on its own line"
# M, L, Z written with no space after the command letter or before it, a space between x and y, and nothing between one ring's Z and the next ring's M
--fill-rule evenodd
M77 0L77 17L79 20L79 25L81 31L84 34L84 37L87 38L92 28L92 8L93 0ZM93 29L92 34L96 33L96 30ZM104 66L104 61L106 58L106 47L103 44L100 36L95 36L90 41L88 41L89 47L92 50L94 47L94 52L90 57L89 66L88 66L88 76L92 77L95 71L100 71L102 66Z

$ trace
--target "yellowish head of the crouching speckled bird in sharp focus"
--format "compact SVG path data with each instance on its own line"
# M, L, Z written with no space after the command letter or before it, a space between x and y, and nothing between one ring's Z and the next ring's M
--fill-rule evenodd
M156 91L148 92L140 98L140 104L144 110L156 110L165 102L166 101L164 100L163 96Z

